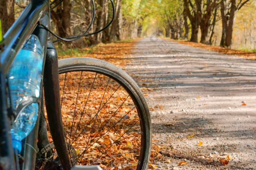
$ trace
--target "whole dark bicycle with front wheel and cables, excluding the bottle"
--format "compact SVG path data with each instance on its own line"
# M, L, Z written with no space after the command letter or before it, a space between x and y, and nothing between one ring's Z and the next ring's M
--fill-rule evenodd
M147 169L151 120L140 88L127 73L106 61L84 57L58 61L49 40L49 33L58 37L49 29L50 5L49 0L31 0L0 42L0 169L70 170L74 165ZM93 9L95 12L94 1ZM58 38L72 41L94 34L88 30L79 36ZM43 81L40 95L33 101L41 109L21 154L14 154L10 126L17 115L10 104L6 74L31 34L44 49Z

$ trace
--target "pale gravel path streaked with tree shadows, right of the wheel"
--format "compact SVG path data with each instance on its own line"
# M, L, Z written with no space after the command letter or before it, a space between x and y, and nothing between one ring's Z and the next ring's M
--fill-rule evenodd
M156 169L256 169L256 61L157 37L138 41L129 60L124 69L145 94L155 145L197 158L233 158L229 166L204 166L163 156L152 162ZM178 166L182 161L188 164Z

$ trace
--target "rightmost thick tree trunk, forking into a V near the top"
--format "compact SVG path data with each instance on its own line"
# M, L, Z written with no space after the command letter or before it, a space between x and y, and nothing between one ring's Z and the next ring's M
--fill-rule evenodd
M237 11L250 0L221 0L222 36L220 46L230 48Z

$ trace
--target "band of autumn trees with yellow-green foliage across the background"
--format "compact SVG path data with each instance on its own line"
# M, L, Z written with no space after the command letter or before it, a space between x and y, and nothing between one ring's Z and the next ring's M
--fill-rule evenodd
M1 0L0 3L5 33L29 0ZM72 42L72 46L80 48L154 34L255 50L256 0L113 0L113 3L113 23L101 33ZM54 0L50 7L52 30L60 37L83 34L92 19L89 33L101 30L113 16L110 0Z

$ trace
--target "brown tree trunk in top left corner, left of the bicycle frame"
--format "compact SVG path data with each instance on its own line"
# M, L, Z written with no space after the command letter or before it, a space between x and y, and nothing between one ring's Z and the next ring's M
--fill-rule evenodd
M3 35L12 26L14 18L14 3L15 0L0 0L0 18L2 20Z

